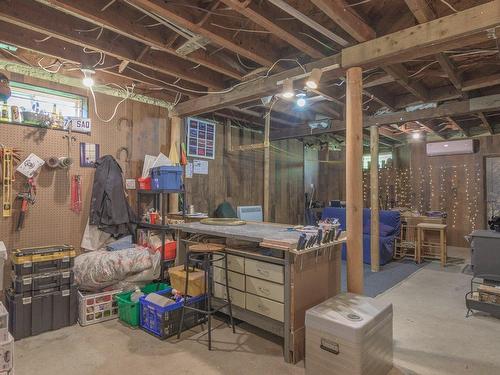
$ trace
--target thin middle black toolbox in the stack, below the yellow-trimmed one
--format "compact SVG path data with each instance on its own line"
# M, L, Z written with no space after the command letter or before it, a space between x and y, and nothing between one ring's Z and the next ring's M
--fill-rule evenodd
M69 287L73 285L74 278L75 276L72 270L54 271L25 276L17 276L12 273L11 288L14 293L43 291L45 289L63 290L69 289Z

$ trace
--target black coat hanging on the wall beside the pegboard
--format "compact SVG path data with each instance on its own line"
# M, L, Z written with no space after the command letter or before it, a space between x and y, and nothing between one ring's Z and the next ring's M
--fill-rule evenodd
M96 161L95 168L90 224L114 237L134 235L138 219L125 196L120 165L106 155Z

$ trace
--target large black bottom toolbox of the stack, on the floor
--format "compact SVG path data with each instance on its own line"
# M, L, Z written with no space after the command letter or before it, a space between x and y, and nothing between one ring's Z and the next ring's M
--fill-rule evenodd
M76 324L78 317L77 287L65 290L45 289L41 294L26 296L6 292L9 310L9 330L14 339Z

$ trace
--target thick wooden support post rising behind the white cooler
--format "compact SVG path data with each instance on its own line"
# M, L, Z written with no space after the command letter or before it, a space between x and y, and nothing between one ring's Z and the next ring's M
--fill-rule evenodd
M346 75L347 290L357 294L363 294L362 72L354 67Z

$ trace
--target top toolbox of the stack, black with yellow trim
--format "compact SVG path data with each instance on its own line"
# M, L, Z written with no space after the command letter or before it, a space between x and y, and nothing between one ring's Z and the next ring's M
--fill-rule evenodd
M72 246L43 246L14 250L12 270L17 276L69 270L75 262Z

